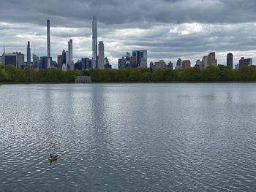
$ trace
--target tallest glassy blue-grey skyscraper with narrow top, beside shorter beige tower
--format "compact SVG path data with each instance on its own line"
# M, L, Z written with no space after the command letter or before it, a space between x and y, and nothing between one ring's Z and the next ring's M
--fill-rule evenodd
M94 16L92 20L92 68L97 68L97 44L98 44L98 32L97 32L97 18Z

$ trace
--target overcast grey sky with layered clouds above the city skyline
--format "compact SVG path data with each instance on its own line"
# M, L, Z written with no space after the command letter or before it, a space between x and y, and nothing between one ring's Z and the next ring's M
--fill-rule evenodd
M0 46L26 55L27 41L46 55L46 20L56 60L73 39L73 57L91 57L91 20L97 15L98 41L110 64L132 50L148 50L148 63L190 59L209 52L256 61L255 0L8 0L1 1ZM0 50L0 53L2 50Z

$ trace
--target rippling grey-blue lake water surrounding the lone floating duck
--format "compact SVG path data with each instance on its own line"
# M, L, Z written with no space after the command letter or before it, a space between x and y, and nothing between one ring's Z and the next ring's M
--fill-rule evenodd
M255 189L256 83L0 85L0 191Z

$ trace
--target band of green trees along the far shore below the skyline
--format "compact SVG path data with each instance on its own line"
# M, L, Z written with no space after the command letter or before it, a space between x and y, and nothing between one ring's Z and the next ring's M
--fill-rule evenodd
M0 82L74 82L76 76L91 76L92 82L247 82L256 81L256 66L242 66L239 70L228 66L208 66L204 70L189 68L146 69L127 68L90 69L74 71L61 69L36 70L26 67L18 70L15 66L0 66Z

